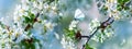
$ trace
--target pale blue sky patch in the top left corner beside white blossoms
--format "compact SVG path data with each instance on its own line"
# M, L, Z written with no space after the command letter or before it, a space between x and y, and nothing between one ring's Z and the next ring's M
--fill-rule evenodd
M13 11L16 0L0 0L0 17Z

